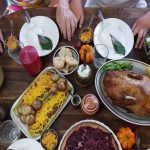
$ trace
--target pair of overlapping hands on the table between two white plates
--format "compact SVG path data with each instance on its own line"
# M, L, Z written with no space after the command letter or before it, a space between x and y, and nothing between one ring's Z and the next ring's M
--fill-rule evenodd
M83 23L82 0L59 0L56 18L64 38L70 41L78 22Z

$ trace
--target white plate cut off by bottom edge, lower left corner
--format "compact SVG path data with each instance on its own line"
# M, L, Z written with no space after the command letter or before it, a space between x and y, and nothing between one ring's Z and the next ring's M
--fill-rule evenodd
M44 150L41 144L33 139L24 138L11 144L8 149L13 150Z

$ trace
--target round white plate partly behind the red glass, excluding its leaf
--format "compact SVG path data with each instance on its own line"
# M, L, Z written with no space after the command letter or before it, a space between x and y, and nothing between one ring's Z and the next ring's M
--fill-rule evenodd
M37 34L47 36L52 40L53 48L52 50L42 50ZM20 31L19 35L20 41L24 46L34 46L37 49L39 56L46 56L50 54L58 44L59 31L55 22L45 16L36 16L31 18L30 23L25 23Z

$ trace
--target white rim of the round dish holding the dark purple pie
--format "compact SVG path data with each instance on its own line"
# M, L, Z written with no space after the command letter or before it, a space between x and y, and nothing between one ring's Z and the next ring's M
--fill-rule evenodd
M69 134L69 132L70 132L74 127L76 127L76 126L78 126L78 125L80 125L80 124L82 124L82 123L84 123L84 122L85 122L85 123L95 123L95 124L97 124L97 125L100 125L100 126L104 127L104 128L105 128L106 130L108 130L108 131L112 134L112 136L114 137L115 142L116 142L116 144L118 145L119 150L122 150L121 145L120 145L120 143L119 143L119 141L118 141L116 135L114 134L114 132L113 132L108 126L106 126L104 123L102 123L102 122L100 122L100 121L90 120L90 119L82 120L82 121L79 121L79 122L75 123L74 125L72 125L72 126L66 131L66 133L65 133L64 136L63 136L63 138L61 139L60 144L59 144L59 147L58 147L58 150L61 150L60 148L61 148L61 146L62 146L62 144L63 144L63 142L64 142L65 137Z

